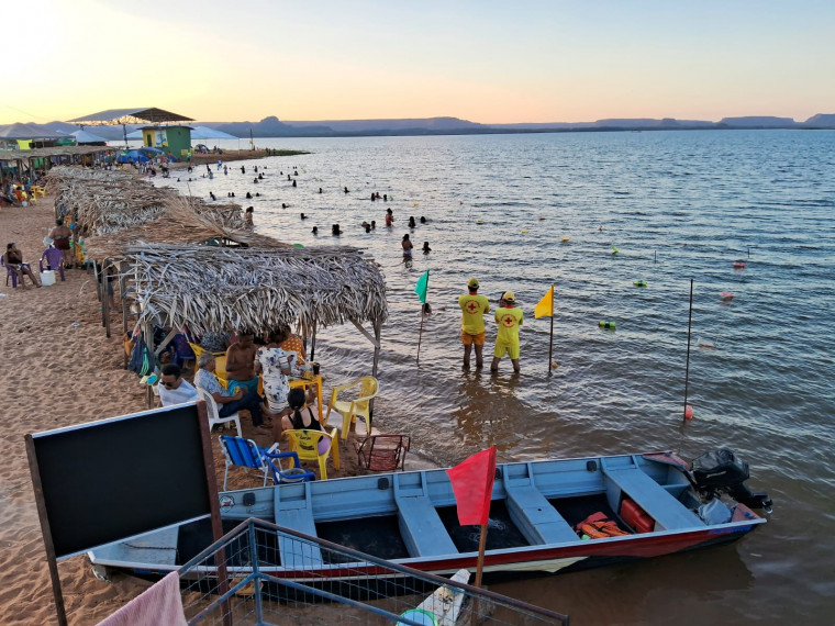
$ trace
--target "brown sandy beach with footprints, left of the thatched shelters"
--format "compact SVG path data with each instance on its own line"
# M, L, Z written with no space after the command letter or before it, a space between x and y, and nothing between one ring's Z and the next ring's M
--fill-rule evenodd
M3 208L0 239L15 242L23 260L37 270L43 238L54 224L54 198L34 206ZM0 373L5 391L0 467L0 623L53 623L55 607L41 526L35 507L23 435L144 411L145 388L123 369L121 308L113 314L113 336L107 338L96 297L96 278L66 270L66 281L36 289L0 289L0 354L8 364ZM2 273L5 278L5 271ZM323 398L329 398L325 382ZM336 415L338 417L338 415ZM271 436L256 432L242 413L244 436L269 445ZM333 420L332 420L333 422ZM329 478L356 473L352 434L342 445L342 470ZM213 433L215 474L223 479L223 457ZM230 489L259 485L254 474L233 468ZM125 574L112 582L96 579L86 557L58 563L70 624L96 624L142 592L148 583Z

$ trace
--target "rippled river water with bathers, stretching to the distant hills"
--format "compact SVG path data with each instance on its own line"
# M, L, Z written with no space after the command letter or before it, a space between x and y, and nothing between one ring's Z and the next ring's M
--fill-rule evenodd
M575 624L835 622L828 317L835 133L256 144L311 154L230 163L225 176L212 167L212 180L200 178L205 167L191 182L180 171L171 185L207 199L213 191L219 201L234 192L240 204L255 208L257 232L304 246L356 246L382 266L390 318L375 418L381 429L410 433L422 455L444 466L490 445L500 460L655 449L693 458L730 447L750 463L749 485L775 501L770 523L731 546L496 591L569 613ZM257 185L256 165L265 175ZM293 171L296 188L287 179ZM260 197L245 200L247 191ZM372 202L372 192L389 201ZM393 228L383 226L387 208ZM366 234L364 220L377 228ZM331 235L336 223L339 237ZM400 247L407 233L415 243L410 266ZM428 255L420 251L424 241ZM417 364L413 289L426 269L434 314L423 324ZM525 313L519 377L506 358L496 377L460 368L457 297L470 277L493 309L502 291L516 294ZM691 279L694 417L684 423ZM634 287L636 280L647 287ZM552 282L558 367L549 378L550 321L534 320L533 309ZM733 300L723 300L723 291ZM601 329L601 320L616 322L616 331ZM490 322L488 355L494 337ZM353 326L318 337L316 360L333 383L368 373L371 355Z

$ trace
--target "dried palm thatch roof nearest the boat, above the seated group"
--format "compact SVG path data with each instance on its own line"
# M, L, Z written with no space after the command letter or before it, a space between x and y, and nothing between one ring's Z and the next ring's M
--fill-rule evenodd
M388 317L382 270L356 248L142 245L125 250L138 323L267 333Z

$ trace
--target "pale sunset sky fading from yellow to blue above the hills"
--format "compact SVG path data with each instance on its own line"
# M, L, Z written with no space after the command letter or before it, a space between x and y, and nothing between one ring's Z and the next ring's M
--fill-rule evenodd
M42 0L3 13L0 123L132 107L204 122L835 113L831 0Z

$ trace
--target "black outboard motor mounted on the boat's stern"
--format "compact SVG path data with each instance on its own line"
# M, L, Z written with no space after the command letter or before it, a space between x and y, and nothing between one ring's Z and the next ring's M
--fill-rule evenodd
M771 512L771 499L765 491L752 492L745 484L749 478L748 463L737 458L728 449L705 452L692 463L693 482L697 489L705 495L727 493L737 502L750 508L762 508Z

